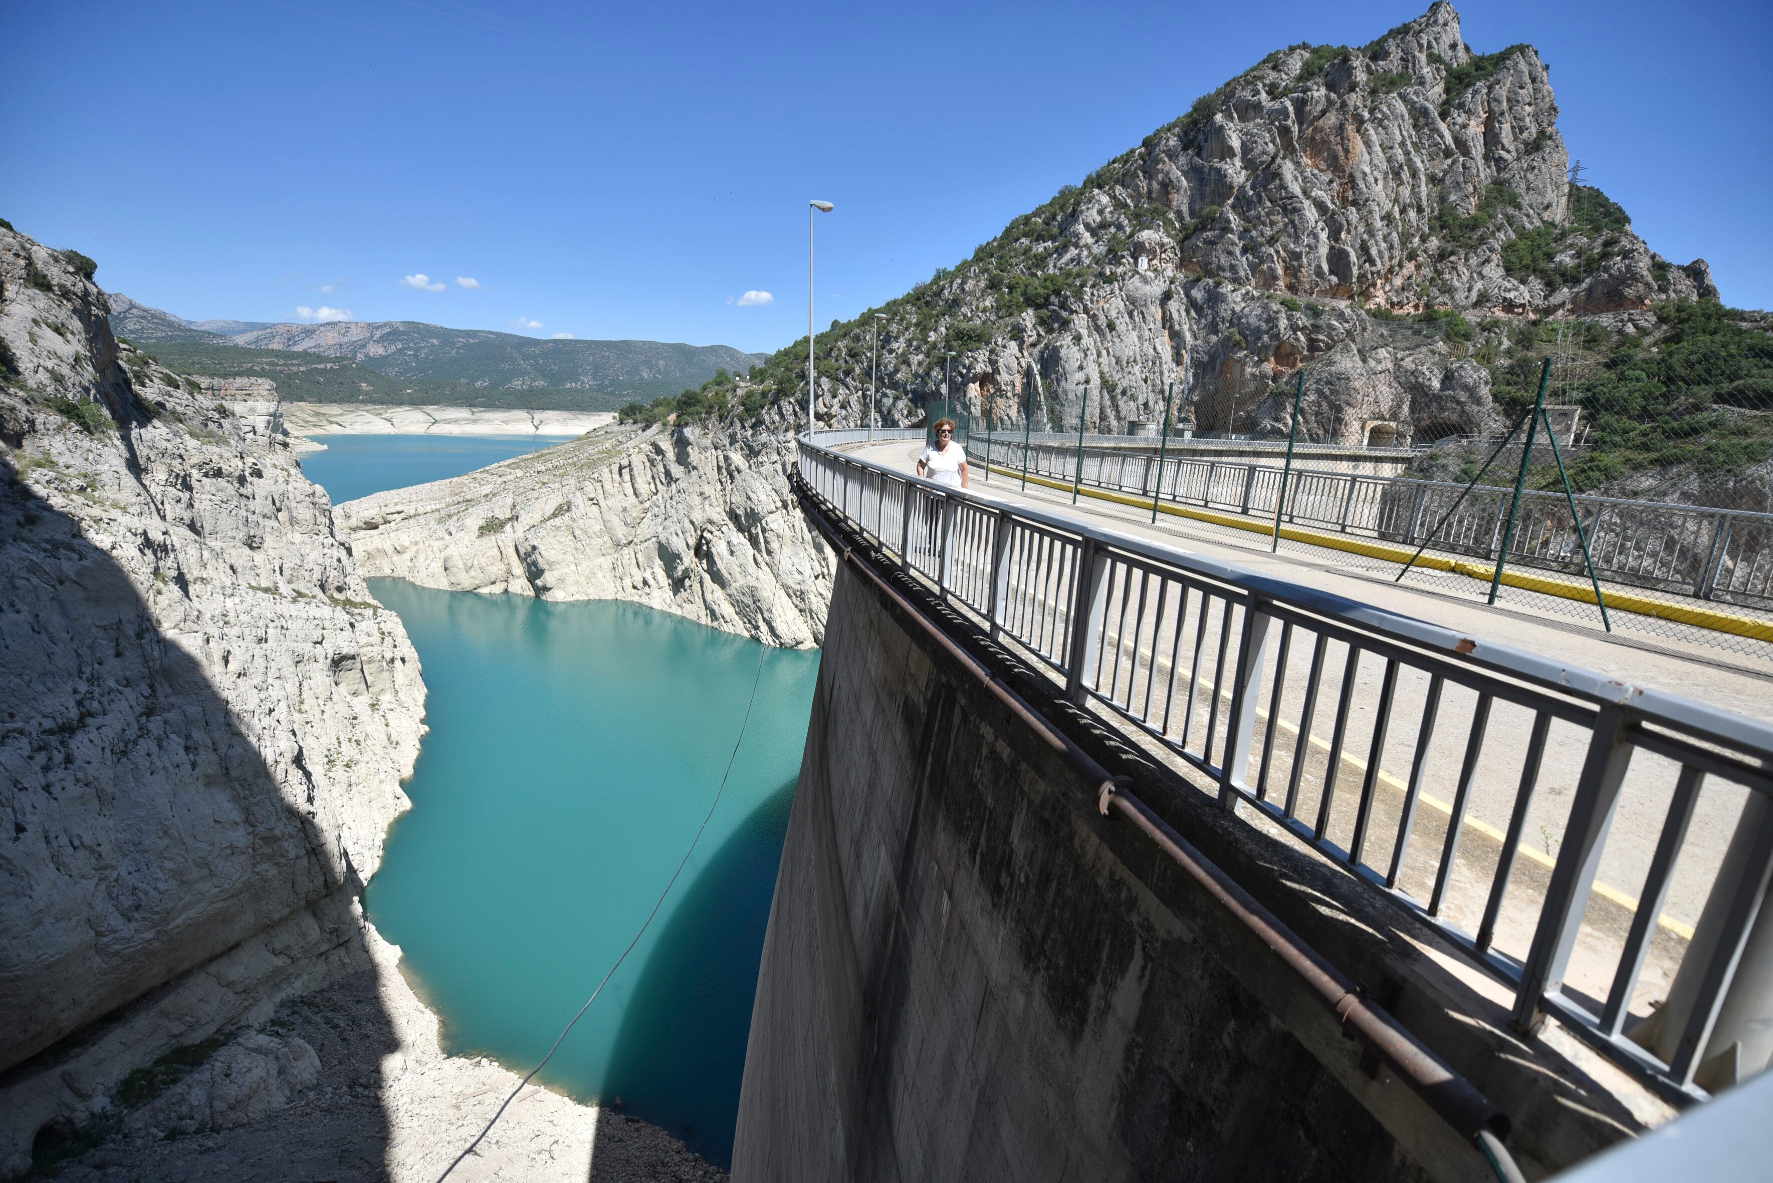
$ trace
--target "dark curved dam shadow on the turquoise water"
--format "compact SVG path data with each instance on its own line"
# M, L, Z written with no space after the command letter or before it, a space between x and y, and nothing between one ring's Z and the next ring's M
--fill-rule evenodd
M640 970L610 1054L605 1103L661 1126L718 1165L732 1165L739 1080L752 1029L769 900L794 785L746 815L683 898ZM592 1164L605 1146L598 1126ZM596 1169L592 1171L596 1176Z

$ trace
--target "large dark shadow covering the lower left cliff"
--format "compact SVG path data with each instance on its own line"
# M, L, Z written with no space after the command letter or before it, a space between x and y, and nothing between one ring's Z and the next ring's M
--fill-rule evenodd
M27 1178L387 1179L378 1098L397 1038L349 912L362 884L332 870L333 839L285 802L128 572L11 457L0 668L0 882L18 891L0 930L0 1151L28 1151ZM190 1137L129 1128L124 1098L152 1103L269 997L326 978L269 1024L321 1055L285 1109Z

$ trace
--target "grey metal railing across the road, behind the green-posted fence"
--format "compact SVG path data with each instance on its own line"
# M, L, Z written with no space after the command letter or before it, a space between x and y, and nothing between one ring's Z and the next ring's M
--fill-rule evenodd
M980 446L980 441L973 441ZM1021 441L991 443L991 462L1021 469ZM1028 448L1028 475L1071 483L1078 448ZM1250 460L1158 459L1083 450L1083 485L1174 505L1229 510L1271 522L1282 469ZM1433 535L1433 549L1495 561L1512 489L1296 468L1282 524L1326 528L1404 547ZM1578 496L1596 574L1628 586L1773 609L1773 514ZM1449 512L1452 515L1449 517ZM1521 494L1509 565L1585 576L1582 538L1564 492Z

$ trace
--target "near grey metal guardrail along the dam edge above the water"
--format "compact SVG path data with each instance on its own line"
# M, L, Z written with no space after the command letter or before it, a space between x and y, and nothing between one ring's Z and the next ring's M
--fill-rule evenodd
M800 473L851 530L1433 924L1523 1032L1551 1015L1672 1102L1761 1068L1773 726L821 446L847 436L803 437ZM1716 866L1683 857L1732 815Z

